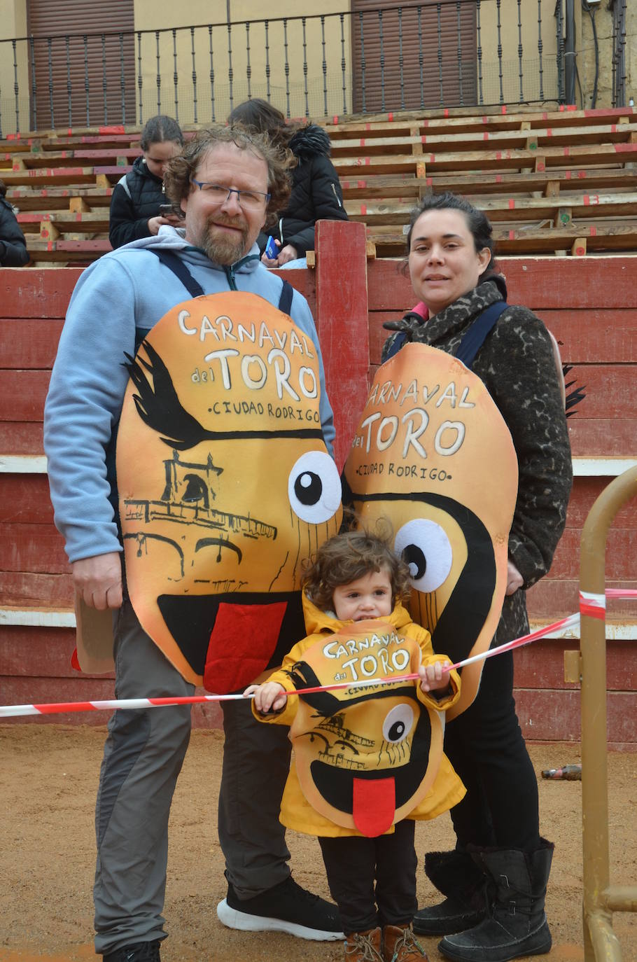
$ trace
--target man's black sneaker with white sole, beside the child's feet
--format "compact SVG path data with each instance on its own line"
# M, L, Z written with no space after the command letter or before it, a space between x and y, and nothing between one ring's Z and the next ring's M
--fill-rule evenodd
M238 899L230 882L217 905L219 922L246 932L288 932L300 939L344 939L339 910L297 885L292 875L252 899Z

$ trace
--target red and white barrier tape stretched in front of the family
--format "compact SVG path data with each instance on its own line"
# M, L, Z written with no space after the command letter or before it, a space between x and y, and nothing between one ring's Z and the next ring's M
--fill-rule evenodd
M637 590L628 588L607 588L605 595L594 595L590 592L579 593L579 611L582 615L589 615L592 618L605 618L606 597L612 598L635 598ZM454 668L464 668L465 665L472 665L474 662L484 661L493 658L495 655L502 654L504 651L511 651L539 638L546 638L547 635L560 628L572 628L579 622L579 615L568 615L552 624L547 624L543 628L537 628L522 638L516 638L512 642L506 642L496 648L489 648L480 654L465 658L464 661L450 665L447 671ZM288 692L288 695L312 695L316 692L332 692L340 689L366 688L369 685L387 684L393 685L396 682L415 681L418 674L393 675L387 679L369 678L360 681L343 681L333 685L317 685L315 688L300 688L295 692ZM167 696L161 698L110 698L103 701L56 701L48 704L33 705L0 705L0 719L14 718L20 715L60 715L64 712L101 712L115 711L122 708L164 708L166 705L198 705L207 701L230 701L242 698L242 695L191 695L191 696Z

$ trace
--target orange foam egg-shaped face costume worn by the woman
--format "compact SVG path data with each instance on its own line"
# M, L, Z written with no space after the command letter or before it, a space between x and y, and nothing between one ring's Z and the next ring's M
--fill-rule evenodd
M460 361L408 343L376 372L344 467L344 501L392 521L413 574L410 611L453 662L485 651L506 588L518 460L497 405ZM462 674L452 719L475 697Z

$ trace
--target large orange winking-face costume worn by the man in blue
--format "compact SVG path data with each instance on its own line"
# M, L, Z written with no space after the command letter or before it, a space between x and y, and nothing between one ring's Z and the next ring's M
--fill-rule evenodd
M236 691L303 636L301 566L341 522L317 350L232 291L174 307L130 371L116 449L129 595L185 678Z

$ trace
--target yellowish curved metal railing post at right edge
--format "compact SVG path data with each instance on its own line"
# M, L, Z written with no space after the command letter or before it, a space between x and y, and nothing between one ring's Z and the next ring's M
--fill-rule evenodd
M579 590L605 604L605 544L619 509L637 494L637 468L615 478L591 508L582 529ZM591 609L593 610L593 609ZM621 962L608 898L608 770L605 612L581 615L582 844L585 962ZM629 910L629 909L627 909Z

